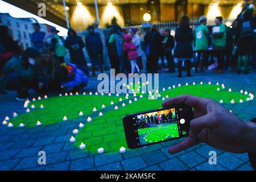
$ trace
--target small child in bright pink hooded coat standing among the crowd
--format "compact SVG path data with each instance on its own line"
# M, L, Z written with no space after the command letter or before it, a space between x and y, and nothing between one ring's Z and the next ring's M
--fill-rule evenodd
M131 73L135 73L135 69L139 73L139 66L137 64L138 53L137 48L133 42L131 42L131 35L126 34L123 36L125 43L123 44L123 52L127 52L128 59L131 61Z

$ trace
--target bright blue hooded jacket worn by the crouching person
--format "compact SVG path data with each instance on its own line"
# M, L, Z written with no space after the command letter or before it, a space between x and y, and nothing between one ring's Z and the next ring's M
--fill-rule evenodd
M84 84L85 86L88 84L89 78L81 71L81 69L77 68L77 65L69 63L67 64L67 67L68 78L71 81L65 82L65 84L63 84L64 86L67 88L74 88L81 84Z

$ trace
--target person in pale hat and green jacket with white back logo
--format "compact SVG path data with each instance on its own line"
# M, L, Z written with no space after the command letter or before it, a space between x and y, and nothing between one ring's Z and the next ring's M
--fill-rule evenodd
M197 59L195 65L195 71L198 73L198 66L200 65L200 72L204 72L204 65L207 62L207 49L209 48L210 44L210 34L207 27L207 17L201 16L199 18L199 26L196 28L196 40L195 40L195 49L194 51L197 52ZM203 59L201 59L203 57Z

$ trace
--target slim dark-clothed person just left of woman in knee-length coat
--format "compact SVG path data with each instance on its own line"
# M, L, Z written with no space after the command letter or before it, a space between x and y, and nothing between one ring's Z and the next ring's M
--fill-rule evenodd
M163 48L164 48L164 56L166 56L169 73L175 72L174 65L174 56L172 55L172 49L174 48L174 37L171 35L171 30L167 28L164 30L164 39L163 39Z

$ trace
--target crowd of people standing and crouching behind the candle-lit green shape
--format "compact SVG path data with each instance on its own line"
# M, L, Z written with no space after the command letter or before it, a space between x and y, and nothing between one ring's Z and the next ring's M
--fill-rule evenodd
M248 74L250 65L255 64L253 11L253 6L245 6L230 27L222 23L220 16L215 19L216 26L207 26L207 18L201 16L199 25L193 28L188 16L183 16L175 36L169 28L159 31L155 24L142 36L137 28L127 32L114 24L105 38L110 66L115 73L141 73L144 70L158 73L159 69L164 70L167 60L168 72L174 73L176 59L178 77L182 77L184 67L187 77L192 76L192 67L196 73L205 72L205 69L222 73L231 67L233 72ZM38 93L84 88L90 76L84 48L92 64L92 76L96 76L97 67L104 72L104 44L93 26L88 27L85 40L72 28L68 30L67 39L63 39L57 35L59 31L55 27L46 34L40 31L40 24L33 26L32 47L26 50L14 41L7 26L0 26L1 93L18 90L17 99L26 100L30 88ZM67 51L69 61L65 60ZM162 61L160 67L159 60Z

